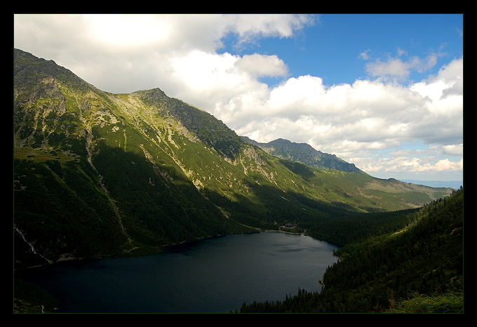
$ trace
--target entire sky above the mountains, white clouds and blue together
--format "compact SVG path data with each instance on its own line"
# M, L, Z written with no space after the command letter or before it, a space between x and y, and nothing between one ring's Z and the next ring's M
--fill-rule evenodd
M464 15L14 15L14 46L112 93L161 88L238 135L378 178L462 180Z

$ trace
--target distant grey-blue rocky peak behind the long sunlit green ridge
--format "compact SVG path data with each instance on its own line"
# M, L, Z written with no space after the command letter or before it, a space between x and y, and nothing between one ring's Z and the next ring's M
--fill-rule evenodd
M260 147L272 156L278 156L279 158L291 161L298 161L310 167L363 173L363 171L354 166L354 163L347 163L343 159L335 156L335 154L318 151L307 143L290 142L289 140L283 140L283 138L278 138L277 140L268 143L260 143L251 140L246 136L242 136L242 138L253 145L257 145L257 147Z

